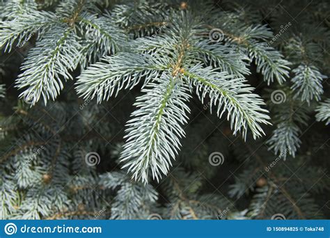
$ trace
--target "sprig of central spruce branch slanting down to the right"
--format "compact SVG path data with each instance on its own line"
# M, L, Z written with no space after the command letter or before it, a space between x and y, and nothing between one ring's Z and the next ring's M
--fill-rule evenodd
M217 106L217 115L221 118L227 111L227 120L230 121L233 134L242 131L246 138L249 127L253 138L262 136L264 132L259 124L269 124L268 111L261 108L265 103L252 93L253 88L244 84L244 79L216 70L197 65L184 71L184 75L191 86L196 86L196 93L202 103L205 96L209 95L211 112L212 106Z

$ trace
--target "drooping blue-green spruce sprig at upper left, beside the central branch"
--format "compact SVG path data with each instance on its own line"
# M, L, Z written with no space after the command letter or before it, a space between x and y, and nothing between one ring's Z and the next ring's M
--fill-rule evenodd
M45 104L55 100L63 89L61 78L72 79L70 70L77 67L81 45L72 29L59 27L47 33L36 47L31 49L22 65L22 74L16 81L17 88L25 89L19 96L36 104L40 97Z

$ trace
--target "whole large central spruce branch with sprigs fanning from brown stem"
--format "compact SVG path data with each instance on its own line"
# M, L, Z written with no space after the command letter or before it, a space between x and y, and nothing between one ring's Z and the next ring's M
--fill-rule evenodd
M236 78L226 72L226 70L235 71L239 75L247 73L247 69L243 67L245 66L244 54L231 50L227 45L219 49L220 45L216 47L217 45L212 45L212 42L201 39L198 36L203 31L201 27L201 22L193 18L191 13L180 12L173 15L173 22L168 24L168 28L162 35L134 40L132 47L127 49L132 52L107 56L103 62L88 67L77 81L78 93L85 98L97 97L97 102L101 102L109 100L113 94L117 95L120 89L132 88L143 80L143 86L150 82L157 97L160 97L167 90L158 92L160 89L155 85L159 84L159 80L183 80L180 82L182 88L189 87L192 92L192 88L196 86L198 95L202 91L199 95L202 102L205 95L210 95L212 103L214 102L218 106L218 116L222 116L225 111L228 112L228 120L234 128L234 133L242 131L245 138L247 129L250 128L254 138L261 136L263 131L260 124L269 123L267 122L269 120L267 110L261 108L264 103L258 95L252 93L253 88L244 84L244 79ZM214 64L221 65L222 68L202 68L201 64L208 57L207 54L212 54ZM237 56L237 58L228 60L228 56ZM162 76L159 78L161 74ZM159 85L162 86L162 83ZM185 89L182 90L185 91ZM171 91L172 89L165 97L166 100L167 97L170 97ZM146 93L147 95L142 96L139 100L144 102L150 99L151 89L146 90ZM180 93L178 94L180 95ZM178 106L180 103L183 104L183 101L179 100ZM140 105L139 101L137 103ZM163 104L161 100L155 101L155 103ZM142 105L141 109L132 116L152 117L149 111L151 109ZM149 106L158 108L154 104ZM167 108L171 105L164 104L164 106ZM185 109L187 107L181 106ZM160 108L162 109L162 106ZM220 111L221 108L223 108L222 111ZM122 161L126 163L124 167L129 168L129 172L133 173L136 180L141 179L143 182L147 182L148 168L152 170L152 177L159 180L161 173L168 172L171 158L175 157L180 148L178 138L183 135L182 129L177 128L172 131L171 127L164 126L163 129L162 124L158 125L164 109L159 112L159 115L157 114L156 118L159 119L153 122L156 128L162 129L159 131L161 135L157 135L158 129L155 129L146 120L138 120L139 123L137 123L138 121L135 119L129 122L129 127L133 129L127 129L127 143L124 145ZM173 113L176 113L175 116L178 118L182 113L182 117L185 118L184 110L177 109ZM178 119L175 118L175 120ZM143 134L146 138L136 140L136 136L141 136L142 128L146 128L146 134ZM155 138L149 138L150 134L155 134ZM161 139L166 148L170 150L169 152L164 152L164 148L154 145ZM152 142L154 140L156 142ZM133 152L137 154L133 154Z

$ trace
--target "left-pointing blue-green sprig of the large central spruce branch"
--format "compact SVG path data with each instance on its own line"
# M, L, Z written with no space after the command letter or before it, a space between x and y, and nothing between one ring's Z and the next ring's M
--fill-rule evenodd
M166 65L148 55L120 53L106 56L102 62L89 66L77 81L77 92L97 102L109 100L123 88L132 89L144 79L144 84L156 79Z

